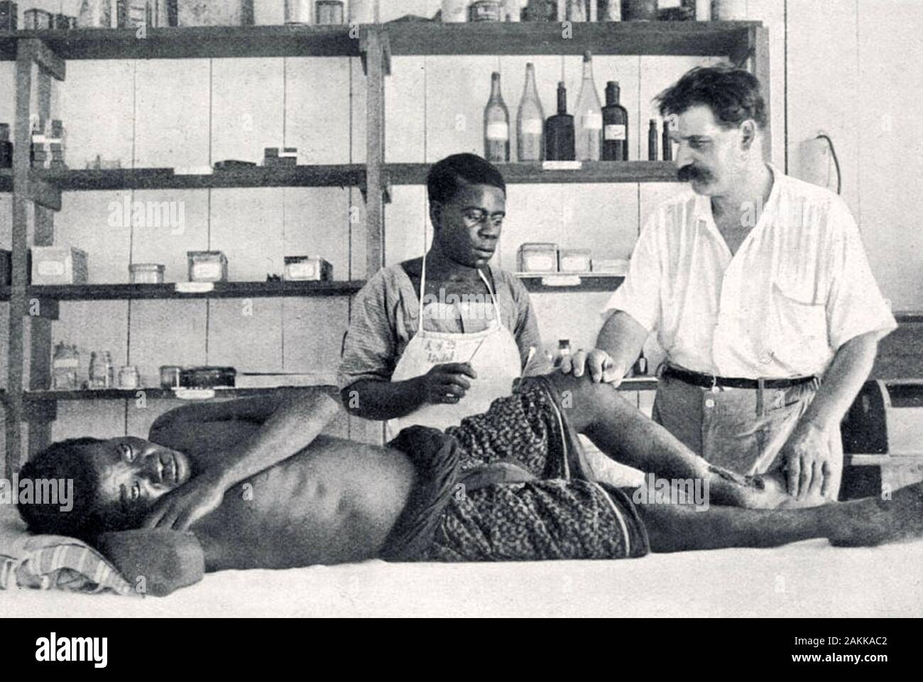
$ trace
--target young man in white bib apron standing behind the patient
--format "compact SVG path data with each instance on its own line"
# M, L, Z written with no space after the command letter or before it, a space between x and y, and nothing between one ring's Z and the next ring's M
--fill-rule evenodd
M506 183L474 154L454 154L426 178L433 243L363 288L343 347L343 405L388 420L445 429L509 396L513 382L549 368L529 294L488 263L506 215Z

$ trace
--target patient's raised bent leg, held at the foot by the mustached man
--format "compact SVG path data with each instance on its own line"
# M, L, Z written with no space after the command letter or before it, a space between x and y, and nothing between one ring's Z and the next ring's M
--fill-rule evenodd
M708 481L713 500L719 505L774 508L783 504L817 504L814 495L798 503L784 488L766 485L759 477L743 476L709 464L664 427L629 405L609 384L594 384L589 375L575 377L561 372L550 374L549 379L565 406L571 426L617 462L662 478ZM821 482L818 481L818 486Z

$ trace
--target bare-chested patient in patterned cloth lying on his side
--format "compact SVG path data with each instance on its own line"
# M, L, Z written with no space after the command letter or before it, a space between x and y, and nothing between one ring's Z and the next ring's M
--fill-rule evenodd
M34 532L95 543L154 594L234 568L614 559L923 535L920 485L888 500L790 497L782 481L709 465L587 377L525 380L459 427L414 427L388 447L319 436L338 409L311 391L193 404L158 419L149 441L55 444L20 477L73 479L73 509L20 513ZM587 480L576 432L621 463L705 481L710 504L638 505L631 491Z

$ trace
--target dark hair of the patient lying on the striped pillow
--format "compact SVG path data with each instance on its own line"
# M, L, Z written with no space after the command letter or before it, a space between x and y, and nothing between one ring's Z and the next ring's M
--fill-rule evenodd
M99 477L90 466L85 449L87 445L102 442L98 438L73 438L54 443L19 469L20 480L74 481L73 508L70 511L61 511L60 502L38 504L47 503L46 500L17 505L19 516L30 532L89 540L96 533L106 530L97 495ZM13 494L18 496L18 491L13 491Z

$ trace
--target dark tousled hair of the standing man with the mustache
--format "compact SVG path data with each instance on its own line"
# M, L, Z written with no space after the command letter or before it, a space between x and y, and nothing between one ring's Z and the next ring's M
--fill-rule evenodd
M736 128L748 118L766 128L766 101L760 81L742 68L730 65L695 67L654 98L660 115L682 114L705 105L723 128Z

